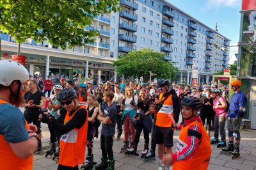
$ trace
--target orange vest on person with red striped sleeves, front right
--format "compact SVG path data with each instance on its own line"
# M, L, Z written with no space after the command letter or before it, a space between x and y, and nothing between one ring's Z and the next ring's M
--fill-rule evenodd
M194 121L190 123L188 126L183 127L180 131L179 141L177 143L176 152L182 151L187 145L187 137L188 137L188 128L190 125L198 125L200 130L202 130L202 142L196 149L195 155L193 157L188 158L187 160L179 160L173 163L173 170L206 170L210 158L211 158L211 143L209 139L209 135L205 131L205 128L202 122Z

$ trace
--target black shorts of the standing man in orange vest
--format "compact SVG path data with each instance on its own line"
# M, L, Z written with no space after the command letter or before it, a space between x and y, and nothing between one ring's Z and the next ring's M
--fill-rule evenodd
M154 143L164 144L164 147L170 148L173 146L173 130L169 127L155 126Z

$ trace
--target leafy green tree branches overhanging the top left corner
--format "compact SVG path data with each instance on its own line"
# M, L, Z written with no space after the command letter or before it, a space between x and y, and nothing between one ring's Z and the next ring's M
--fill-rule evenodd
M17 42L48 40L62 49L94 42L98 31L84 31L101 13L120 10L118 0L0 0L0 31Z

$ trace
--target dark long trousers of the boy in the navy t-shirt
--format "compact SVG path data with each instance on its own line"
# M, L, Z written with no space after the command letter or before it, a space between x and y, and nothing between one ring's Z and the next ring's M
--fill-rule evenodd
M102 152L102 157L104 159L113 160L114 153L113 153L113 136L105 136L100 135L100 149Z

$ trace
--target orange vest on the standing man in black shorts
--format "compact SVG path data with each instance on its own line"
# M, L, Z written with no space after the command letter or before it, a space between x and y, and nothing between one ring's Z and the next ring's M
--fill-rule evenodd
M161 93L159 102L163 101L165 97ZM173 102L172 102L172 95L169 95L168 98L164 101L163 106L157 112L156 116L156 125L158 127L172 127L172 121L169 118L169 114L173 117Z

